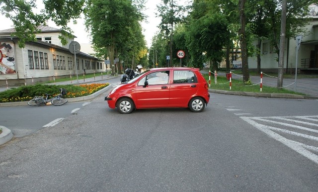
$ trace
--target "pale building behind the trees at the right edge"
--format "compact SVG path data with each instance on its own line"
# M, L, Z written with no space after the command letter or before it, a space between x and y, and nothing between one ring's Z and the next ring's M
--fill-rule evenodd
M311 5L312 11L310 18L312 21L306 26L309 35L302 35L300 48L298 50L298 61L296 62L296 37L286 39L284 52L284 72L295 73L296 63L297 70L300 73L318 73L318 6ZM257 41L254 41L256 47ZM261 71L277 72L278 60L277 53L269 40L263 40L261 43ZM248 58L248 68L257 70L257 57Z

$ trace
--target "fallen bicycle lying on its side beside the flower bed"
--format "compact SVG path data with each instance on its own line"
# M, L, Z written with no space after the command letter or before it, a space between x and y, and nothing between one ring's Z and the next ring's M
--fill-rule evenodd
M54 96L52 98L48 98L49 94L45 93L46 97L44 96L35 96L33 99L29 100L28 105L30 106L36 106L36 105L41 105L41 104L47 104L51 102L55 106L59 106L62 104L65 104L68 102L68 99L63 98L64 95L66 95L66 90L60 88L61 93L57 96Z

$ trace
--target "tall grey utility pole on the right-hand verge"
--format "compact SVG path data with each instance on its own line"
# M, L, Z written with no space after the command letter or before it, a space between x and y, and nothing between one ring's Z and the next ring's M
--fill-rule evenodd
M279 43L279 58L278 58L278 79L277 88L283 87L283 67L284 67L284 52L285 52L285 38L286 38L286 7L287 0L282 0L282 16L280 24L280 43Z

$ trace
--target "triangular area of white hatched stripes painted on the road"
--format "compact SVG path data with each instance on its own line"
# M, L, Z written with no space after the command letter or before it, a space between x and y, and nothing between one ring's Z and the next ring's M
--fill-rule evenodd
M318 115L240 118L318 164Z

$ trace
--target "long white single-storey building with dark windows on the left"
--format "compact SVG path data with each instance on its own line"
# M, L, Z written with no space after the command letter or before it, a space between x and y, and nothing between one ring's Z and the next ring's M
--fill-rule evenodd
M37 41L27 42L24 48L19 48L18 38L10 36L14 28L0 30L0 86L30 85L74 76L77 72L81 75L106 72L103 60L80 51L75 62L75 55L69 50L74 38L62 45L58 38L61 29L46 25L39 29L41 33L36 34Z

